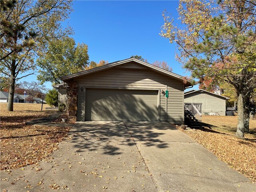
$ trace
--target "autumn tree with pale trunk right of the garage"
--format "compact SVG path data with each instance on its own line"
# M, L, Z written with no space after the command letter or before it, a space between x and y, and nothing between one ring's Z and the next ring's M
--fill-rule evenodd
M176 59L193 78L227 82L238 96L236 136L244 138L248 102L256 88L256 2L180 0L181 27L163 13L161 36L175 42Z

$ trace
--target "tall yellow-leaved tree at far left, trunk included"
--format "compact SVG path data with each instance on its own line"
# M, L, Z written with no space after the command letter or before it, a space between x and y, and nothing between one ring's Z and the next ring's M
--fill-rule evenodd
M34 74L34 58L44 55L48 41L72 34L69 26L61 26L72 11L71 4L65 0L1 0L0 73L10 81L8 111L13 111L15 82Z

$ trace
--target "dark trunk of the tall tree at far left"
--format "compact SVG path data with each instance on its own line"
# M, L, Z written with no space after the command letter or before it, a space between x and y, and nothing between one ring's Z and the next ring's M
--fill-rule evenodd
M9 90L9 97L8 97L8 105L7 111L13 111L13 99L14 99L14 89L15 89L15 64L16 60L12 60L12 71L10 77L10 90Z

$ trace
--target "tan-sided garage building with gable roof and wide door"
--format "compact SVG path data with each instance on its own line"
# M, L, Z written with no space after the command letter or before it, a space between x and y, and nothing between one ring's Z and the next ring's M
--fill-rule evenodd
M191 80L136 58L61 78L68 84L70 121L184 123L184 88ZM168 97L166 97L168 96Z

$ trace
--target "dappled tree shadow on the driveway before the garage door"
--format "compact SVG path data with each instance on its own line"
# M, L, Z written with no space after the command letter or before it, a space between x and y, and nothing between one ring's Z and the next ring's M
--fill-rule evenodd
M77 122L72 129L71 142L80 150L95 151L101 148L105 154L122 154L118 147L110 144L110 140L121 141L123 146L134 145L134 140L148 141L148 146L168 147L161 139L167 130L177 130L166 122ZM86 142L84 142L86 140ZM99 144L95 141L101 141ZM160 142L160 143L159 143Z

